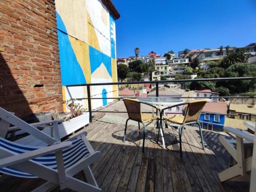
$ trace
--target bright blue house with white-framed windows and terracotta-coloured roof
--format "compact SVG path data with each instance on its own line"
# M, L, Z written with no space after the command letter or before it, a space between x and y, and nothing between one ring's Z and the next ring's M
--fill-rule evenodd
M199 122L204 129L223 131L225 115L227 114L226 102L207 102L200 115Z

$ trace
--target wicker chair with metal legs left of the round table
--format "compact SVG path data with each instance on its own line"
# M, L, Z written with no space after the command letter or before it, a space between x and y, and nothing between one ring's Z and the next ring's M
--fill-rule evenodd
M140 130L140 123L143 124L143 146L142 146L142 152L144 152L144 144L145 144L145 132L146 132L146 124L147 122L152 122L154 120L159 120L159 117L156 115L149 115L149 114L145 114L145 113L141 113L141 108L140 108L140 104L146 104L146 105L150 105L153 108L159 110L158 108L156 108L156 106L151 105L149 103L145 103L142 101L139 101L137 99L123 99L123 102L125 104L125 108L127 110L128 113L128 119L125 122L125 130L124 130L124 136L123 136L123 142L125 141L125 137L126 137L126 129L127 129L127 122L129 120L134 120L138 122L138 126L139 126L139 130ZM150 124L148 123L148 124Z

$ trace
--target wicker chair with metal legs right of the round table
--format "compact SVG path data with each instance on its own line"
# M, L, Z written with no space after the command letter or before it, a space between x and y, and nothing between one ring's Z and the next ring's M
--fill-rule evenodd
M180 156L182 157L182 144L181 144L181 136L182 136L182 131L185 127L185 125L196 123L199 126L199 131L200 131L200 136L202 140L202 146L204 150L204 139L203 139L203 134L202 134L202 127L201 124L198 122L198 119L200 117L200 114L203 110L203 107L205 103L207 102L206 99L200 99L200 100L193 100L193 101L188 101L185 103L169 106L167 108L162 109L161 117L163 115L164 110L174 108L179 105L185 105L187 104L185 108L185 115L171 115L171 116L164 116L163 120L168 121L171 123L179 124L179 138L180 138ZM167 125L167 123L165 123ZM160 127L162 129L162 122L160 124ZM159 129L160 130L160 129ZM158 132L158 139L159 139L159 132ZM157 142L158 142L157 139Z

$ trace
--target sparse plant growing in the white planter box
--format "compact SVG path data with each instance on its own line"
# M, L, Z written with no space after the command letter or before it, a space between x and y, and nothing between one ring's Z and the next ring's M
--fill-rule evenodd
M81 104L75 103L76 100L77 99L63 100L63 103L65 103L67 108L70 110L70 116L66 117L64 119L65 121L80 116L86 111Z

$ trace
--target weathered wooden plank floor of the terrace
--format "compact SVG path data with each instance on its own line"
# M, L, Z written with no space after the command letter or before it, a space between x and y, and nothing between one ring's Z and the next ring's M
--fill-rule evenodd
M221 183L218 173L228 167L229 154L218 141L224 133L204 131L205 151L198 131L183 131L183 158L179 154L178 132L164 129L167 149L156 143L157 130L147 131L142 153L142 134L130 125L123 143L123 124L95 121L81 131L88 132L93 148L102 159L92 166L102 191L249 191L249 183ZM77 178L83 179L79 173ZM44 183L41 179L0 178L1 191L30 191ZM59 188L53 191L59 191ZM64 191L71 191L65 189Z

